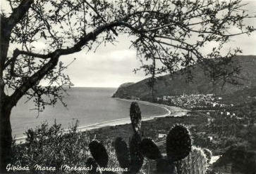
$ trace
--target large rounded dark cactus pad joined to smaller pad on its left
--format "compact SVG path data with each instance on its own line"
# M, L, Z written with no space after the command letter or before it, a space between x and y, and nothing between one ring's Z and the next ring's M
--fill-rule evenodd
M173 126L166 138L166 157L161 154L157 145L150 138L142 140L140 149L148 159L157 161L157 171L155 173L174 174L177 172L174 162L185 158L190 153L190 133L185 126Z

